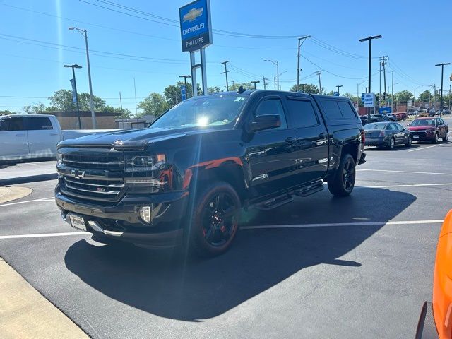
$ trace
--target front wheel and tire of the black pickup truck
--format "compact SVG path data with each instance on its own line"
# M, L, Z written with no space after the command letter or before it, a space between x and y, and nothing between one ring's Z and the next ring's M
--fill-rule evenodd
M215 182L200 188L190 205L188 250L203 257L224 253L239 228L241 204L237 192L227 182Z

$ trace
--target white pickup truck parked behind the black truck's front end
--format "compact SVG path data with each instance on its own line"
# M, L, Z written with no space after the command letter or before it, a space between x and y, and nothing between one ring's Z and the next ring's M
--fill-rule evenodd
M0 116L0 162L57 157L57 144L88 134L114 129L61 131L57 117L50 114Z

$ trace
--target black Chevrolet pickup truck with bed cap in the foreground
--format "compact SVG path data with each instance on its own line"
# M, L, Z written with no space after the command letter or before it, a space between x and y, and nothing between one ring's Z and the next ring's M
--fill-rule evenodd
M364 129L346 97L239 90L194 97L147 129L58 146L61 215L105 242L225 251L242 208L348 196Z

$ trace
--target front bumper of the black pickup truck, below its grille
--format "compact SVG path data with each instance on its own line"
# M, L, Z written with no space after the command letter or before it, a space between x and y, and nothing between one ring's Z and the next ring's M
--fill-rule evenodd
M188 199L188 191L177 191L148 196L126 195L114 205L102 205L98 201L65 196L59 186L55 189L55 201L64 220L68 213L76 213L85 220L88 232L153 248L182 243ZM151 207L150 224L141 220L141 206Z

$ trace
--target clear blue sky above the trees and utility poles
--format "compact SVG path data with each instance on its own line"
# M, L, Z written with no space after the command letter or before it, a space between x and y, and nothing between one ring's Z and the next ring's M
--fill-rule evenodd
M86 2L84 2L86 1ZM237 1L210 0L213 28L267 36L311 35L302 45L301 83L315 83L314 71L323 69L322 87L341 93L364 92L367 85L368 44L358 42L369 35L374 40L373 56L388 55L388 92L391 71L394 92L441 83L435 64L452 62L452 2L428 1ZM78 91L88 92L88 75L83 37L70 26L88 30L93 93L107 104L135 112L133 78L138 102L151 92L179 81L189 74L189 54L181 49L178 8L189 1L114 0L112 2L160 16L124 11L103 0L0 0L0 109L20 112L23 105L48 104L55 90L70 89L70 69L79 64ZM91 4L88 4L91 3ZM98 6L113 8L109 11ZM40 12L40 13L37 13ZM167 20L169 19L169 20ZM75 47L75 48L74 48ZM107 53L105 53L107 52ZM230 60L230 81L273 81L280 63L280 85L288 90L296 83L296 38L247 38L213 35L206 49L208 85L225 87L221 61ZM153 58L153 59L152 59ZM372 90L379 90L379 61L372 61ZM376 73L376 74L375 74ZM445 90L452 67L445 68ZM424 87L420 87L424 86ZM273 83L270 83L273 88Z

